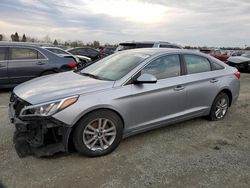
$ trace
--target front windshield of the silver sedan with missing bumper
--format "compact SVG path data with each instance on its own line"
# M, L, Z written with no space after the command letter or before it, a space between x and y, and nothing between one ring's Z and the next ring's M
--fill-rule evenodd
M137 52L114 54L88 66L80 73L92 75L93 78L97 79L116 81L128 74L148 57L149 55Z

